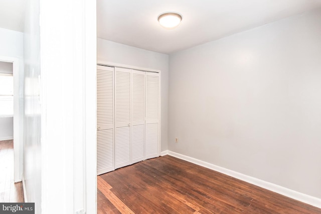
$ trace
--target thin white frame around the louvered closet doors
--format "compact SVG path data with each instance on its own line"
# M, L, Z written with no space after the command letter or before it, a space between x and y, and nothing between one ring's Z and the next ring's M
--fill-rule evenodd
M97 60L97 65L102 65L102 66L110 66L110 67L118 67L118 68L126 68L126 69L132 69L132 70L138 70L138 71L145 71L145 72L154 72L154 73L159 73L159 90L158 90L158 103L159 103L159 108L158 108L158 118L159 118L159 123L158 123L158 155L161 156L161 127L162 127L162 73L161 70L156 70L156 69L149 69L149 68L143 68L143 67L138 67L138 66L131 66L131 65L125 65L125 64L119 64L119 63L113 63L113 62L108 62L104 61L101 59Z

